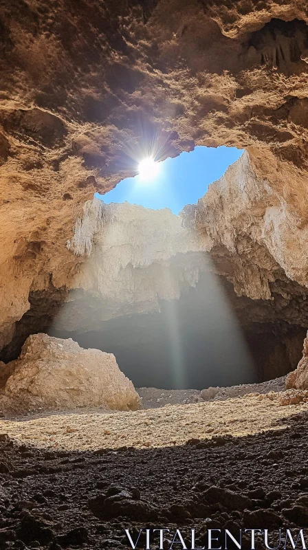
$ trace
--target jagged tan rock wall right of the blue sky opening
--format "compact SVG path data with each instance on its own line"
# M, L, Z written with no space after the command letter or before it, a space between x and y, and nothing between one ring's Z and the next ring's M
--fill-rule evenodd
M197 231L205 250L212 251L236 294L269 300L278 292L287 299L281 285L289 279L306 287L305 300L307 226L298 225L292 206L272 190L266 177L256 176L247 152L181 216Z

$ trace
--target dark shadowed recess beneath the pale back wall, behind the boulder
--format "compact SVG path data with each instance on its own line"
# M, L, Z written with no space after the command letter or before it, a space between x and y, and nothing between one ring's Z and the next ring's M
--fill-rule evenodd
M228 281L203 273L196 288L179 300L161 300L161 311L100 319L94 296L65 290L34 292L30 310L17 323L1 360L16 359L30 333L72 338L81 347L113 353L136 387L202 389L265 382L296 368L306 329L277 319L278 296L251 300L236 296ZM223 296L223 298L221 298ZM289 311L298 303L289 304ZM80 328L58 328L62 308Z

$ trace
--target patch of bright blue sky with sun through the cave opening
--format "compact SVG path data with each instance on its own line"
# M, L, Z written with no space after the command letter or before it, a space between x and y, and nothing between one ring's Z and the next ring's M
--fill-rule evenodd
M128 201L154 210L170 208L178 214L186 204L197 202L208 185L219 179L242 153L235 147L198 146L195 151L159 162L159 172L153 179L129 177L106 195L95 196L107 204Z

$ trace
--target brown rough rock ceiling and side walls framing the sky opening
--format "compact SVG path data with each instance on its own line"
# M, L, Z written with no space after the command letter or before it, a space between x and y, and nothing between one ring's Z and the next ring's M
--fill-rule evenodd
M196 144L247 150L184 213L232 300L243 298L241 322L278 339L307 327L307 22L303 0L5 0L1 358L74 300L69 289L82 292L100 228L89 225L84 243L74 228L85 230L94 191L134 175L145 155ZM160 290L140 294L134 311L157 309Z

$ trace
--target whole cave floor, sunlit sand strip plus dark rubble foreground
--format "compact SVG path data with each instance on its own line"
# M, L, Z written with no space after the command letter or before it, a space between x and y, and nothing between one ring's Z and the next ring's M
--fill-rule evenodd
M1 420L0 549L127 548L128 528L202 540L209 527L308 527L306 398Z

